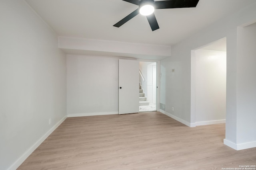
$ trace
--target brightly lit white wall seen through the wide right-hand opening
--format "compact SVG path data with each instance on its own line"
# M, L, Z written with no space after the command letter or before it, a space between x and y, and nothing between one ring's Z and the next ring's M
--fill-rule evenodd
M196 125L223 123L226 119L226 52L198 49L195 53Z

